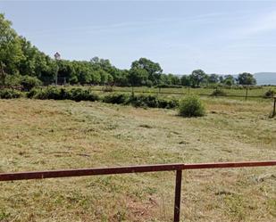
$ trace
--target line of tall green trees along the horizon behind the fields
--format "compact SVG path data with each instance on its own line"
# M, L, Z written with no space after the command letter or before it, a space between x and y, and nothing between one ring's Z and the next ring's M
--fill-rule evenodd
M205 86L210 84L255 85L250 73L207 75L194 70L190 75L165 74L160 64L146 58L132 62L130 70L121 70L106 59L90 61L54 60L12 29L12 22L0 13L0 86L51 85L55 78L75 85L111 86Z

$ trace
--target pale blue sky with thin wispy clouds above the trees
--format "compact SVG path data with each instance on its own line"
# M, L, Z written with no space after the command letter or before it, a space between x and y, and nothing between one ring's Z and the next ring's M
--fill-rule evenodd
M50 56L146 57L165 73L276 71L276 1L0 0L13 29Z

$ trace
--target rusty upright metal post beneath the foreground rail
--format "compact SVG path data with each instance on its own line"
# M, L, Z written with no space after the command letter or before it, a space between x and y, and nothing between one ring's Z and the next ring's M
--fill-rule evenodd
M181 180L182 180L182 170L176 170L174 218L173 218L174 222L180 222Z

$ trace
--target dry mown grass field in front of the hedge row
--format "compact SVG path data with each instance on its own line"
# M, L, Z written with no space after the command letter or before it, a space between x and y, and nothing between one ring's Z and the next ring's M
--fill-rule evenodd
M0 172L276 160L272 102L203 98L207 115L0 100ZM276 169L183 172L181 219L276 221ZM0 221L170 221L174 173L0 182Z

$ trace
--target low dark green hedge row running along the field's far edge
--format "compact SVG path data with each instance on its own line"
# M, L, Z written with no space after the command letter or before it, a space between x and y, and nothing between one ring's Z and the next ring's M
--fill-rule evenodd
M179 101L175 99L163 99L157 95L130 95L130 94L107 94L96 95L89 89L81 88L35 88L28 94L28 98L46 100L73 100L79 101L102 101L104 103L133 105L135 107L165 108L172 109L179 105Z

